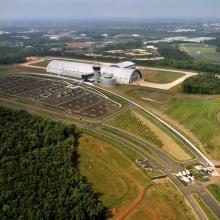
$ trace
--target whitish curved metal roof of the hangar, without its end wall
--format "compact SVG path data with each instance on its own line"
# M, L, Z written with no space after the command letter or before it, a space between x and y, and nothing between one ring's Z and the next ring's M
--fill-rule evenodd
M119 84L129 84L136 70L101 65L101 74L113 74ZM53 60L47 66L47 72L65 74L74 78L82 78L83 74L93 73L93 64Z

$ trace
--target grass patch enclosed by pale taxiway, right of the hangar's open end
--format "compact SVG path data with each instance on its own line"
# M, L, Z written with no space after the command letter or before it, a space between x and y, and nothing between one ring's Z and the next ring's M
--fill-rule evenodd
M147 68L139 68L143 75L143 79L152 83L171 83L178 78L184 76L183 73L168 72L161 70L151 70Z

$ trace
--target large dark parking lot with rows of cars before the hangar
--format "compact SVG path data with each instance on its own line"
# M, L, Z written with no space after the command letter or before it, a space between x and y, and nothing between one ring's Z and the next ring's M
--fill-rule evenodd
M115 102L82 87L69 88L65 81L24 75L1 75L0 93L38 101L63 112L89 118L103 117L119 107Z

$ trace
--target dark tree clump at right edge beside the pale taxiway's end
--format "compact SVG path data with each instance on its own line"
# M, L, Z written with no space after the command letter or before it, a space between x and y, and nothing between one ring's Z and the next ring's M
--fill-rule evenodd
M192 94L220 94L220 78L214 75L198 75L186 79L183 84L183 91Z

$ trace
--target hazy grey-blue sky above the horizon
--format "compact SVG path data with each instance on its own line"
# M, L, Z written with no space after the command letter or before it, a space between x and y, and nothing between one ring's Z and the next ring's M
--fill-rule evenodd
M0 0L0 19L220 18L220 0Z

